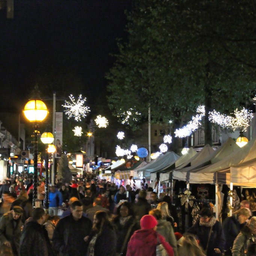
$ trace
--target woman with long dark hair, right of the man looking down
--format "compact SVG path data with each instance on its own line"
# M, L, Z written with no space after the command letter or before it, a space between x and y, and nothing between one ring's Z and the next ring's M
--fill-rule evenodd
M88 256L115 256L117 235L105 211L95 213L92 232L90 236L85 237L85 241L87 239L89 241Z

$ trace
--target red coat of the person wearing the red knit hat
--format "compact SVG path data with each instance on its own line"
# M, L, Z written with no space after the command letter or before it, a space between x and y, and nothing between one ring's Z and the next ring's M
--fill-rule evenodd
M174 256L172 247L165 238L153 229L139 229L135 231L127 246L126 256L156 256L156 246L162 243L169 256Z

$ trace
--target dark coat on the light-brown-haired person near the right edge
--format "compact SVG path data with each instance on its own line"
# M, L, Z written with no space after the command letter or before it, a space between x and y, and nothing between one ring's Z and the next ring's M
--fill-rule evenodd
M222 223L223 232L226 238L226 246L225 250L230 250L233 247L233 243L235 238L239 234L241 228L243 228L245 224L240 224L237 216L233 215L232 217L227 217Z

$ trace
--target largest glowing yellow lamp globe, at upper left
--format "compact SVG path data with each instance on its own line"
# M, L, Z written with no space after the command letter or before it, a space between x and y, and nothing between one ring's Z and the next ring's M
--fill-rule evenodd
M30 122L41 122L48 114L47 107L42 100L30 100L25 105L23 112Z

